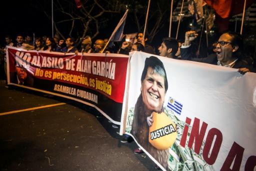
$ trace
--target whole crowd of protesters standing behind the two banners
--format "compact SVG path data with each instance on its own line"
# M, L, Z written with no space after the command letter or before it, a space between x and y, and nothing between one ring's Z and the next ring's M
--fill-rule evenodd
M256 72L255 64L251 56L243 53L243 39L239 33L226 31L222 33L217 41L208 46L207 55L202 56L194 52L192 43L198 34L195 31L188 30L184 35L184 42L179 42L175 38L166 37L162 39L157 49L147 43L147 35L142 32L136 34L132 41L123 41L113 44L107 38L96 39L92 44L90 36L75 39L73 37L59 38L51 36L42 36L32 38L30 35L23 36L17 34L15 40L9 35L5 36L5 47L0 48L0 68L6 75L6 46L23 48L26 50L45 50L63 53L121 53L137 50L150 54L158 54L174 59L193 60L205 62L225 67L237 68L241 74L246 72ZM79 42L79 44L77 44ZM157 51L157 52L156 52ZM199 56L199 57L198 57ZM3 69L4 68L4 69ZM3 75L3 74L1 74ZM6 76L5 76L6 77Z

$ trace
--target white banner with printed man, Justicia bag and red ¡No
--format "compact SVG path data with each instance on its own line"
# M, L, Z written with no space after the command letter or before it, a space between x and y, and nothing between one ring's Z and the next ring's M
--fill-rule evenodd
M130 55L121 132L162 169L253 170L255 73L138 51Z

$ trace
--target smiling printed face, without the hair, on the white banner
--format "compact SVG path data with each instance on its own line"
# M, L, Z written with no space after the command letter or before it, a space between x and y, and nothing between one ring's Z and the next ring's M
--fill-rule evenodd
M164 78L147 68L146 76L141 84L142 100L147 109L160 112L165 95Z

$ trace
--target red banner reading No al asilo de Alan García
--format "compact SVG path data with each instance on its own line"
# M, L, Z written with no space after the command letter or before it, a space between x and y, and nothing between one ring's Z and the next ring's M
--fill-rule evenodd
M122 103L127 55L64 54L13 47L8 47L7 54L8 83L71 95L96 106L106 99Z

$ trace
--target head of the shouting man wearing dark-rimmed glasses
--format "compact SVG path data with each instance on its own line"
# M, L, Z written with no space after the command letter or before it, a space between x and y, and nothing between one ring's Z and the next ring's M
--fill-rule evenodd
M221 63L240 58L242 56L242 37L240 34L227 31L220 35L216 42L217 59Z

